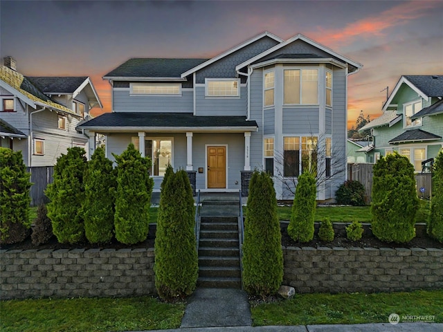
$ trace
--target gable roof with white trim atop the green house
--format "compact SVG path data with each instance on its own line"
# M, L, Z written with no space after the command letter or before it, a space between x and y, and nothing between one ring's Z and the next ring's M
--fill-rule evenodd
M383 111L388 109L402 84L409 86L426 101L430 97L443 97L443 75L402 75L383 105Z

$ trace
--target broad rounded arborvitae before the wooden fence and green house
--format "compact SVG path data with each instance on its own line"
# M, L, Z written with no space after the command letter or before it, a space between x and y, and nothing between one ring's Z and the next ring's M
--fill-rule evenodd
M373 170L372 232L381 241L410 241L419 205L413 165L395 152L377 161Z

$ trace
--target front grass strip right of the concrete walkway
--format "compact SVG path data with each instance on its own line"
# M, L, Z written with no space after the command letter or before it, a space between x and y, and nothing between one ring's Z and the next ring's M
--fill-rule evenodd
M251 306L254 326L387 323L391 313L435 315L443 322L443 290L410 293L296 294Z

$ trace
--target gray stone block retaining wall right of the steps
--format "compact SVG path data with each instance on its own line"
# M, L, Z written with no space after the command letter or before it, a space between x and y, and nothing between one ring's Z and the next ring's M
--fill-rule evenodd
M443 288L443 249L283 248L283 284L299 293Z

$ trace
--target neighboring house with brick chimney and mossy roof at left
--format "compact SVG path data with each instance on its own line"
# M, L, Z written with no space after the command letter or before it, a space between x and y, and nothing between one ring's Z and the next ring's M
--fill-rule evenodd
M68 147L89 151L76 127L102 107L89 77L27 77L15 60L0 66L1 146L21 150L28 167L52 166Z

